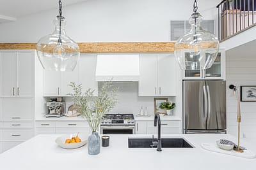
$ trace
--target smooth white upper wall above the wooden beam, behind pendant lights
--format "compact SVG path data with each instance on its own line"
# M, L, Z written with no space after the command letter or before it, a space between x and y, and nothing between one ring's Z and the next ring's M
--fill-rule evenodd
M198 1L198 11L216 20L218 3ZM79 42L170 41L170 20L188 20L192 11L191 0L90 0L64 6L63 16L68 36ZM53 31L56 15L57 9L0 24L0 42L36 42Z

